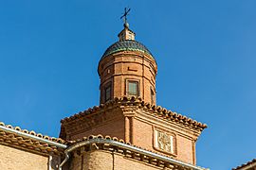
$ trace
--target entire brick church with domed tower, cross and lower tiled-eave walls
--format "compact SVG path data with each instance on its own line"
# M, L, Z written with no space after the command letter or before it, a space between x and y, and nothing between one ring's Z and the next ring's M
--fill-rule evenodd
M156 106L155 58L135 41L128 11L99 62L100 105L64 118L59 139L0 122L1 170L206 170L195 142L207 126Z

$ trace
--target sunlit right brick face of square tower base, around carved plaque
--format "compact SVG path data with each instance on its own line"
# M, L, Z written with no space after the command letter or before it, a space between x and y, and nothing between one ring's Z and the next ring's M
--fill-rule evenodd
M154 128L163 132L174 134L175 154L169 154L156 150L154 147ZM197 138L196 132L185 127L179 127L173 123L161 121L154 116L147 117L147 113L137 113L133 120L133 144L142 148L154 150L167 156L173 156L175 159L195 164L194 139Z

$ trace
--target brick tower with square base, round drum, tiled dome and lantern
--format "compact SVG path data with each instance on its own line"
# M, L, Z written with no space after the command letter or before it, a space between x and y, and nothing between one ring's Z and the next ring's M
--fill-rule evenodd
M154 56L135 40L126 19L118 37L99 61L100 105L64 118L60 137L66 141L98 134L117 137L123 143L195 165L195 143L207 126L156 106Z

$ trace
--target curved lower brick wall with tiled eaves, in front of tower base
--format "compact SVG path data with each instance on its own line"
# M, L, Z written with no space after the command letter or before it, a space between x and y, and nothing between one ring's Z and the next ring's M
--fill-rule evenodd
M103 141L97 142L98 139ZM95 142L90 143L90 141ZM112 142L114 142L112 144ZM120 143L120 146L115 142ZM71 169L170 169L170 170L189 170L192 169L192 164L180 165L178 162L165 161L161 159L161 154L143 149L145 152L140 152L141 147L124 143L118 138L111 138L109 136L103 137L89 136L77 141L71 141L72 147L80 145L72 151ZM123 144L123 146L121 146ZM129 147L131 145L131 147ZM137 148L137 149L133 149ZM137 151L136 151L137 150ZM156 154L154 156L150 156ZM158 156L157 156L158 155ZM164 155L163 155L164 156ZM165 156L164 156L165 157ZM163 158L164 158L163 157ZM170 158L171 159L171 158ZM190 166L190 167L189 167ZM193 166L196 169L204 170L204 168Z

